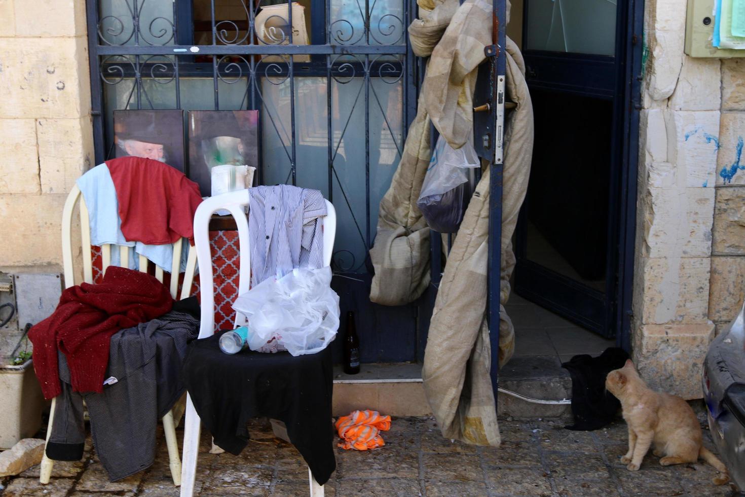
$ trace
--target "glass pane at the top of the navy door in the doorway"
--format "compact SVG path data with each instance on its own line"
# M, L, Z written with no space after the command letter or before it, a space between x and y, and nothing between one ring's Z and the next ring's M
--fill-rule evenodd
M528 0L527 48L615 55L616 0Z

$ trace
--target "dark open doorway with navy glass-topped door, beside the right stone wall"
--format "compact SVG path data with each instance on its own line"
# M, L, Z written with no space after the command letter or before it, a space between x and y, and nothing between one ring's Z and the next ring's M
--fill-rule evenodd
M627 329L630 306L634 7L524 0L522 9L536 136L515 291L606 338Z

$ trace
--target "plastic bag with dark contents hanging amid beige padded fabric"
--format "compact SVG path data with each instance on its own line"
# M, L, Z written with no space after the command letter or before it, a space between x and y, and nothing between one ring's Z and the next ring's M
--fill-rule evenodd
M416 206L431 229L456 232L470 199L466 183L474 178L480 162L471 142L454 150L442 136L432 152Z

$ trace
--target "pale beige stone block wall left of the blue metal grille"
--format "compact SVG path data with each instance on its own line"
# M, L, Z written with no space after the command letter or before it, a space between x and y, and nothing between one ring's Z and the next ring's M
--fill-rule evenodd
M84 0L0 0L0 267L60 265L93 157Z

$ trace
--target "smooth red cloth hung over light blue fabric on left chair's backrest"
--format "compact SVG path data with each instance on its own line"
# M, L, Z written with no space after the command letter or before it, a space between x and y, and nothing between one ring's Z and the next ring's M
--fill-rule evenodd
M106 165L116 189L121 232L128 241L172 244L182 236L194 244L199 185L163 162L119 157Z

